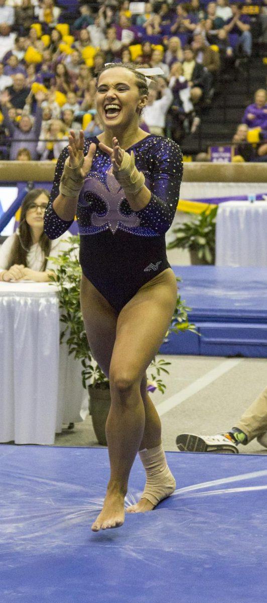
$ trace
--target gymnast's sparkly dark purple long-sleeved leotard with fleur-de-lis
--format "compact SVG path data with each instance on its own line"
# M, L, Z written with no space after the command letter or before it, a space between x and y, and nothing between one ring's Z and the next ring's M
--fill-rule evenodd
M99 144L95 136L87 139L84 154L92 142ZM77 207L83 274L118 312L142 285L170 267L165 232L174 219L183 175L180 147L170 139L150 134L127 149L131 150L151 191L148 205L138 212L131 209L111 173L110 157L97 147ZM53 209L67 157L66 147L58 158L45 212L49 239L62 235L72 224Z

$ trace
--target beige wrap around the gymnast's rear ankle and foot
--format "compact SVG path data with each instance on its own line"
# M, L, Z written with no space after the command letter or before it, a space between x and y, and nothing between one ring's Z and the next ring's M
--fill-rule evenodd
M152 505L157 505L160 500L171 496L176 486L163 446L140 450L139 456L146 470L146 485L141 499L146 498Z

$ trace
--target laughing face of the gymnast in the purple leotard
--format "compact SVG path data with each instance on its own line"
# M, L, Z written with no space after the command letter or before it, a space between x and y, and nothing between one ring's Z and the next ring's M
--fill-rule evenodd
M130 69L107 69L98 80L96 109L105 128L127 128L139 115L148 100L140 95L136 76Z

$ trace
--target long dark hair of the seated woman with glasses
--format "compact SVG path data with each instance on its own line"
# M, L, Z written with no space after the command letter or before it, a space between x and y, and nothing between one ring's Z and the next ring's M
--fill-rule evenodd
M11 266L14 264L24 264L24 266L27 267L27 254L33 245L33 238L31 236L30 226L26 221L26 213L29 205L33 203L37 197L40 197L42 193L45 194L49 199L49 192L46 189L33 189L33 191L30 191L27 193L27 195L25 195L24 200L22 201L19 234L17 234L15 237L14 243L11 247L7 270L9 270L9 268L11 268ZM46 257L49 256L51 250L51 241L48 236L45 235L45 232L42 232L42 235L40 236L39 245L44 255L44 260L41 267L41 271L44 271L47 264Z

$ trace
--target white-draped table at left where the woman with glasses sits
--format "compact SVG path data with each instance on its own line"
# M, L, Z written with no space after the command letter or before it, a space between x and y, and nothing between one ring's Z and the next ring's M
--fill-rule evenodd
M53 444L87 404L81 363L59 343L57 286L0 282L0 441Z

